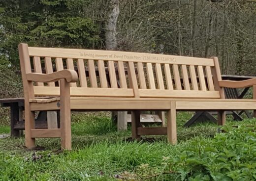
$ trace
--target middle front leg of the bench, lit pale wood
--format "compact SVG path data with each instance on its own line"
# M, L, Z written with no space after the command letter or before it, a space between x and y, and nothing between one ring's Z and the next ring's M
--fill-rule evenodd
M167 139L170 144L177 143L176 103L171 102L171 109L167 111Z

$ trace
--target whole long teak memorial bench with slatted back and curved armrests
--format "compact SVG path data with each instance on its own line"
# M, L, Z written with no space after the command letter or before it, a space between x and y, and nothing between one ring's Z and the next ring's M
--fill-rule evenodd
M225 110L256 108L256 100L224 99L223 87L252 86L256 79L222 80L217 57L35 48L27 44L19 45L19 56L28 148L35 146L35 138L61 137L62 149L70 150L70 110L131 110L132 138L167 134L168 141L175 144L176 110L215 110L219 112L218 123L223 125ZM74 66L78 67L78 74ZM89 67L89 77L85 74L85 66ZM42 74L42 67L46 74ZM53 72L53 67L56 67L56 72ZM105 67L108 67L110 85L107 84ZM53 97L43 99L40 96ZM60 110L60 129L34 128L34 111L42 110ZM167 127L142 128L139 122L142 110L167 111Z

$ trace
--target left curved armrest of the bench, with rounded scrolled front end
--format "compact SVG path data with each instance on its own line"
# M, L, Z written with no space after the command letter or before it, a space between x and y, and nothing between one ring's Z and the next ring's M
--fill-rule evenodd
M67 82L76 82L78 79L77 73L74 70L61 70L51 74L29 73L27 79L34 82L55 82L61 78Z

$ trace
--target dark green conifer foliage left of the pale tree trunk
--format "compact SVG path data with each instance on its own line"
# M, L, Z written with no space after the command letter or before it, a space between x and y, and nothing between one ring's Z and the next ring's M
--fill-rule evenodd
M0 54L17 66L19 43L95 48L99 27L85 15L90 0L0 0Z

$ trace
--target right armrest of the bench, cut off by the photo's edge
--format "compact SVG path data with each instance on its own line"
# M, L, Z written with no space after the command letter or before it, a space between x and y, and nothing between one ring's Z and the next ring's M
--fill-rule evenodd
M220 87L229 87L229 88L245 88L256 85L256 78L251 78L248 80L233 81L233 80L221 80L219 81Z

